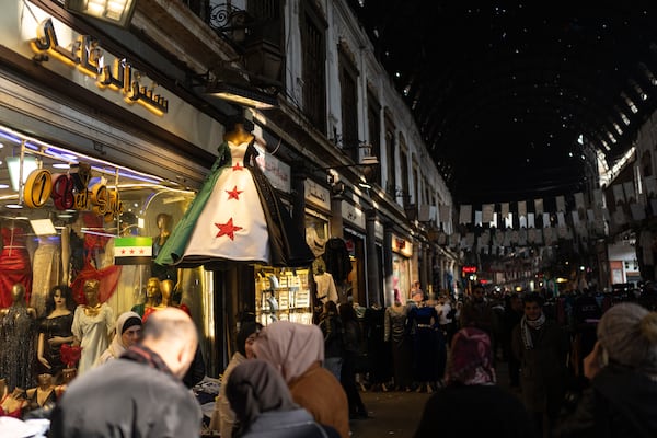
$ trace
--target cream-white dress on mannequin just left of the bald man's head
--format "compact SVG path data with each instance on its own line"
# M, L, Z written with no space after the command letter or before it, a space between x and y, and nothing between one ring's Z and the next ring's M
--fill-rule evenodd
M84 306L76 308L71 332L80 339L82 356L78 365L78 376L93 368L94 362L110 345L110 334L114 331L114 311L106 303L101 304L99 314L89 316Z

